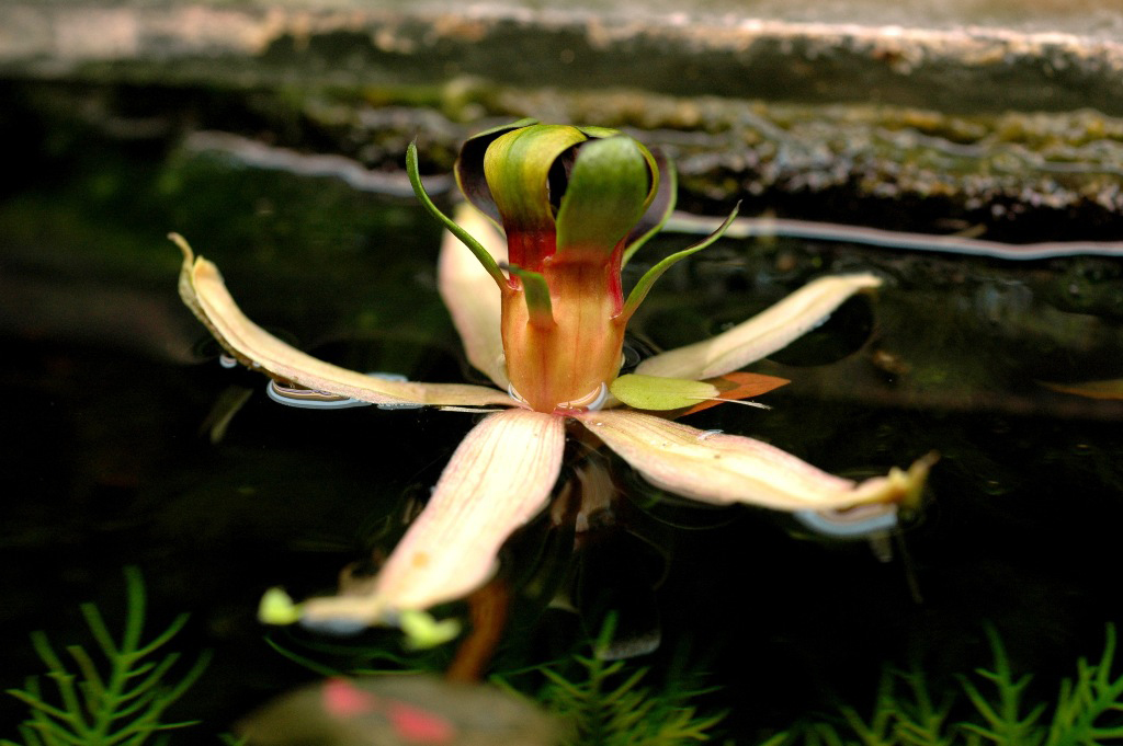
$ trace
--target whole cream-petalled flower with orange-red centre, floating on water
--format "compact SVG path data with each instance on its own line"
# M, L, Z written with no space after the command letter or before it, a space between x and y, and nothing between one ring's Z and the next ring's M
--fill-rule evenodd
M623 295L621 267L673 209L668 164L614 130L515 122L464 145L456 175L472 206L462 205L456 221L424 194L413 146L407 166L418 197L449 231L441 296L468 360L496 388L375 378L312 358L243 315L217 267L173 237L184 255L184 302L243 365L286 386L380 405L506 407L465 436L372 582L292 608L282 602L280 611L272 599L267 616L337 627L417 624L418 613L480 587L508 536L546 506L570 422L648 481L704 503L830 512L919 499L926 459L855 482L760 441L667 416L785 383L733 371L877 287L876 276L816 279L749 321L620 376L624 328L651 285L721 233L656 264Z

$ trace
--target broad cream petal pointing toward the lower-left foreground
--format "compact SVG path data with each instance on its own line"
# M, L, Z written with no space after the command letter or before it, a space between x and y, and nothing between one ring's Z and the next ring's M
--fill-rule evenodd
M562 417L527 409L490 415L456 449L368 592L312 599L303 618L375 624L465 596L487 580L506 537L546 506L564 448Z

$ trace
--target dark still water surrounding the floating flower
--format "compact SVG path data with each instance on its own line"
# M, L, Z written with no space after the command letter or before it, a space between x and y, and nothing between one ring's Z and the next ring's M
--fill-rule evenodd
M188 237L250 317L309 351L475 380L435 289L439 232L410 199L180 147L182 121L121 135L44 110L34 91L4 95L0 129L31 158L0 187L0 683L42 670L29 632L85 639L79 602L117 618L121 568L137 565L153 628L190 611L177 646L214 651L175 710L203 725L177 743L217 743L208 734L313 675L265 643L262 591L329 589L344 565L392 546L472 415L273 404L263 379L218 365L179 302L164 236ZM1016 666L1051 682L1123 618L1123 406L1041 385L1123 377L1117 260L727 241L668 275L633 331L647 346L695 341L810 277L866 268L888 280L875 298L754 367L793 379L767 397L772 411L725 406L691 424L852 476L938 451L929 503L893 560L796 536L764 512L649 506L651 490L609 459L633 501L573 561L590 598L611 590L629 618L658 618L664 644L645 662L705 673L716 690L700 706L730 709L732 737L827 707L828 692L861 702L886 663L915 660L937 680L968 671L987 662L986 623ZM208 417L247 392L212 443ZM520 572L533 544L508 555ZM595 617L520 604L501 667L596 632ZM273 636L317 655L310 635ZM362 642L398 651L390 632ZM22 716L0 701L0 737Z

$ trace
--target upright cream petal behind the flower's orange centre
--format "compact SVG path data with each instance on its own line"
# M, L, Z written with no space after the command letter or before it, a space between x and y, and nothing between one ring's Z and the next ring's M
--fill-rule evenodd
M499 263L506 261L506 241L483 213L469 204L456 209L454 219L472 233ZM506 363L500 334L500 291L487 270L460 241L445 232L437 265L437 285L460 333L468 362L506 389Z

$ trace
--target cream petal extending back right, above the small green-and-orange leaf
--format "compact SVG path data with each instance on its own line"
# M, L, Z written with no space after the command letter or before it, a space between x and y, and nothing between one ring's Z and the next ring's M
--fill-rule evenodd
M636 372L668 378L714 378L787 347L858 291L877 287L874 275L821 277L716 337L641 362Z

